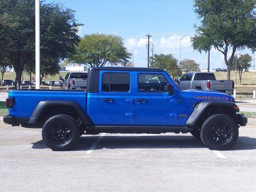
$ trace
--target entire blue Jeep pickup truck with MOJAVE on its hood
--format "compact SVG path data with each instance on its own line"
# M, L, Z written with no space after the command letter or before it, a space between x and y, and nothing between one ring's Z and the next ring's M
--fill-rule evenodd
M181 91L156 68L98 67L87 90L12 90L6 99L12 126L42 128L52 150L69 150L82 134L188 133L210 149L228 150L247 118L234 98L217 91Z

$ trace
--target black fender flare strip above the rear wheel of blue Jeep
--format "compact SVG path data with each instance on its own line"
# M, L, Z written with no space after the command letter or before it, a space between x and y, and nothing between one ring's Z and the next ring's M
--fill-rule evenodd
M28 120L28 123L36 124L38 118L40 117L40 114L43 112L43 110L47 106L70 106L76 109L78 114L81 116L83 122L86 123L86 125L93 126L94 123L84 111L84 109L75 101L67 101L67 100L44 100L40 101L36 108L34 108L34 111L32 112L30 119Z

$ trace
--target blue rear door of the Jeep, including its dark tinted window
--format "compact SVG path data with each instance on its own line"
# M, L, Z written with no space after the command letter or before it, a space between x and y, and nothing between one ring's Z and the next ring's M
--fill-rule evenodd
M113 122L133 119L133 72L100 71L98 101Z

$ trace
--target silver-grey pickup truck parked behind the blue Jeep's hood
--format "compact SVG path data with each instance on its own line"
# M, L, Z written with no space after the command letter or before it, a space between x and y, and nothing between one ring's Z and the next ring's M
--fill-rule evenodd
M214 90L231 95L234 90L233 80L216 80L214 73L194 72L184 74L175 83L181 90Z

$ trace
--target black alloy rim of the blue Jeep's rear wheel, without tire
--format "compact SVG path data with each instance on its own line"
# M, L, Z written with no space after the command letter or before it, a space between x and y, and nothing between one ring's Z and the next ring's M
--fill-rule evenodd
M71 129L62 123L54 124L50 133L56 144L64 144L71 138Z

